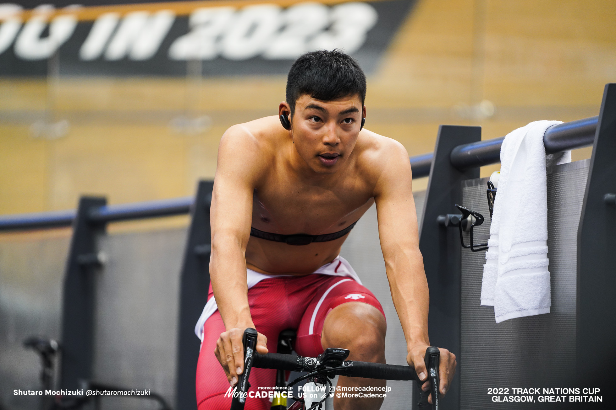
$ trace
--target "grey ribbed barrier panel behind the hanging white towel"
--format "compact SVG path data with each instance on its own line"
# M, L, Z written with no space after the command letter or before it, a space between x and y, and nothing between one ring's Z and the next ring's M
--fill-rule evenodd
M496 323L493 307L480 306L485 251L461 250L461 410L549 406L538 401L493 403L487 388L575 387L570 378L575 374L577 227L589 163L581 160L547 170L550 313ZM462 183L463 205L486 218L474 229L480 242L485 242L490 232L487 181L477 178ZM469 241L466 232L464 241ZM446 396L443 403L447 401Z

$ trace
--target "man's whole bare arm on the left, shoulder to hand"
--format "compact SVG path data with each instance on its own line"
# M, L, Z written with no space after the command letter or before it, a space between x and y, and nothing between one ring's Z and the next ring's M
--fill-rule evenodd
M212 251L209 272L225 332L216 343L216 358L234 385L243 371L242 336L254 328L248 307L246 245L250 237L253 192L261 173L259 144L241 125L229 128L218 148L209 218ZM267 353L259 333L257 352Z

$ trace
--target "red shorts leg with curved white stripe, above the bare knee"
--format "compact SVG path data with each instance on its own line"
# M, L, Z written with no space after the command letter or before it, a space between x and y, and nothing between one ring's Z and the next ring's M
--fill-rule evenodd
M321 333L328 313L347 302L363 302L385 313L375 295L363 285L347 277L328 277L319 283L315 296L309 302L298 326L295 350L299 355L316 357L323 353Z

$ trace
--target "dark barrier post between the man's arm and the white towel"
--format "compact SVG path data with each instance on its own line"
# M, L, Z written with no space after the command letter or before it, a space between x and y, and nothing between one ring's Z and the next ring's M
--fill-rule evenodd
M444 409L460 408L460 320L461 320L461 250L458 231L437 223L439 215L457 213L453 206L462 200L461 182L479 178L479 168L458 170L453 167L450 154L456 146L481 140L481 127L441 125L430 168L423 221L419 227L419 250L423 254L424 269L430 290L428 331L430 344L455 353L458 369ZM415 396L419 389L415 387ZM415 402L415 400L413 400ZM418 409L416 403L413 408Z

